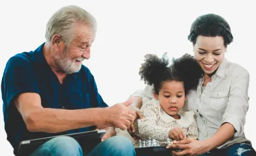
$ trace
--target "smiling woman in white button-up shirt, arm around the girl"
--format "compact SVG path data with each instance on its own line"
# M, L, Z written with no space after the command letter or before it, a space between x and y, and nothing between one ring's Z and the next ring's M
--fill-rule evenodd
M244 135L249 73L224 57L233 40L229 23L216 14L199 16L191 25L188 39L204 71L197 90L187 96L184 106L195 112L199 140L184 139L167 148L183 149L172 151L174 155L256 155ZM153 98L152 86L133 96L138 97L134 106L140 108L142 101ZM129 133L134 136L131 130Z

